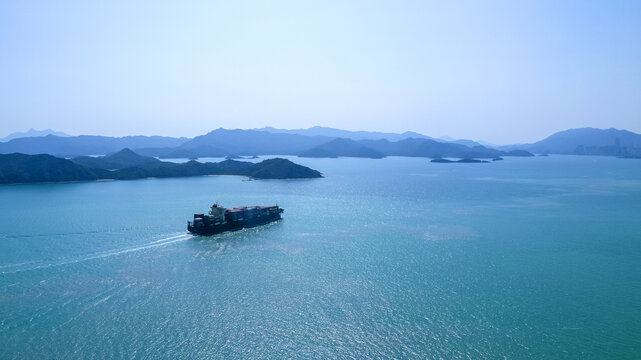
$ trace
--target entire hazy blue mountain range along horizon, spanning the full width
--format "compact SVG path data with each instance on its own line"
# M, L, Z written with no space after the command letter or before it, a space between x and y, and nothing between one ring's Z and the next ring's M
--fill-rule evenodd
M297 132L302 132L299 134ZM345 135L345 136L336 136ZM404 136L409 136L404 138ZM390 140L391 137L397 140ZM102 155L123 148L159 158L224 157L230 154L298 155L302 157L415 156L494 158L529 156L531 153L641 156L641 135L616 129L571 129L558 132L533 144L502 146L478 145L468 140L446 142L418 133L351 132L323 127L302 130L216 129L193 139L161 136L25 137L0 143L0 154L50 154L62 157ZM519 150L519 151L516 151ZM86 159L87 162L92 161ZM89 165L88 163L86 165Z

